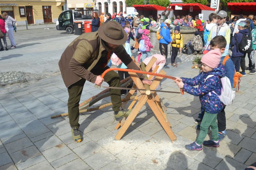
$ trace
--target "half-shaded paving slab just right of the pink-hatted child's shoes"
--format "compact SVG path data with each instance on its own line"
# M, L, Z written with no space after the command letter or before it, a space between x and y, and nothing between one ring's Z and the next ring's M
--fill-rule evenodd
M233 158L240 149L241 147L226 141L221 141L220 147L212 148L213 151L217 151L218 153L230 158Z

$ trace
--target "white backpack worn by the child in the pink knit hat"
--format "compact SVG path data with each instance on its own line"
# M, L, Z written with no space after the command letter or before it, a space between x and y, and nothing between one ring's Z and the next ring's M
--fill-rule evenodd
M212 77L213 75L208 75L204 82ZM214 91L212 91L214 94L216 94L219 98L220 101L225 104L226 106L230 105L233 103L233 100L235 98L235 91L232 90L230 81L227 76L220 78L220 83L221 83L221 94L220 96L217 95ZM211 92L210 92L211 93Z

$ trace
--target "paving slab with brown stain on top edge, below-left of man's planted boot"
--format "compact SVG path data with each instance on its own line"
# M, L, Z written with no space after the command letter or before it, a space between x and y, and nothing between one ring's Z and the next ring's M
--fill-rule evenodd
M49 162L62 158L70 153L73 152L63 143L42 152Z

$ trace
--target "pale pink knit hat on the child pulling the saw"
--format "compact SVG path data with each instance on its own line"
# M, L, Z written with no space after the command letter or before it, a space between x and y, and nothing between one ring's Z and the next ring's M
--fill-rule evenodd
M206 66L216 68L220 64L220 57L220 49L211 50L202 57L201 62Z

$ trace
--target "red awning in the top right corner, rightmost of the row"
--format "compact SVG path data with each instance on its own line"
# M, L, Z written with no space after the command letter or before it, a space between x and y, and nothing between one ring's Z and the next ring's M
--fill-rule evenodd
M230 10L256 11L256 2L228 2Z

